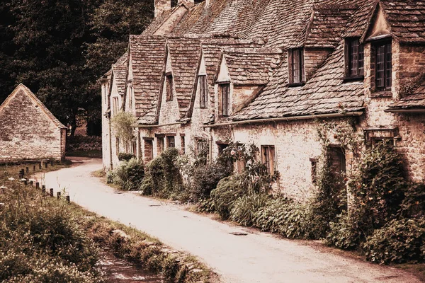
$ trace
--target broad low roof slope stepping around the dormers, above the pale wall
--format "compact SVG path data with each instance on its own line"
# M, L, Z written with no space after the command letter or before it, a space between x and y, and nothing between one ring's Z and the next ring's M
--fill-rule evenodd
M344 83L344 44L302 87L288 87L288 63L280 64L263 92L234 120L255 120L363 110L363 83Z

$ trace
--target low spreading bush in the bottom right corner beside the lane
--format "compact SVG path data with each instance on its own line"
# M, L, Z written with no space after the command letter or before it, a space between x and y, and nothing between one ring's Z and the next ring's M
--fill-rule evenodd
M425 261L425 219L394 219L363 244L366 258L377 263Z

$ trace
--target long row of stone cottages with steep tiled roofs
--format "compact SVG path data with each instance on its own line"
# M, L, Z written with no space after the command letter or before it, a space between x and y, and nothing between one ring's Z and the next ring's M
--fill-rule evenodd
M425 1L155 0L156 18L130 35L103 78L103 164L120 151L149 162L168 147L253 141L280 171L276 189L314 190L320 121L348 121L364 146L388 139L412 180L425 175ZM111 117L137 118L135 139L113 136ZM329 151L346 171L336 140Z

